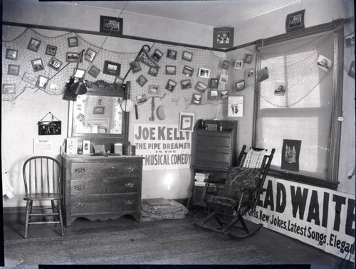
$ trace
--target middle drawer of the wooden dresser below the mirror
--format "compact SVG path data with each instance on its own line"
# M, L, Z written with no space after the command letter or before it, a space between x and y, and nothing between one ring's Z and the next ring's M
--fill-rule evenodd
M72 195L137 192L137 182L137 178L75 179L70 181L70 192Z

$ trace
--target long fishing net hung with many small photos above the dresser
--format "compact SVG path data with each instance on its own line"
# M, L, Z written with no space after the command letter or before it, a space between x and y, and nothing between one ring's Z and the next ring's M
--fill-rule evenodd
M78 43L72 44L68 42L68 38L77 38ZM28 44L31 39L36 39L40 41L38 51L33 51L28 49ZM3 38L4 39L4 38ZM74 46L73 46L74 45ZM48 46L56 48L56 53L48 54ZM245 48L236 48L235 51L231 51L228 54L228 57L221 58L217 56L219 53L211 51L209 49L194 49L186 48L184 46L169 46L163 43L154 43L148 44L150 46L150 52L148 54L152 56L156 50L162 53L162 57L157 61L159 65L159 71L157 75L150 75L149 67L143 63L139 62L141 70L137 73L128 73L125 81L131 81L130 88L130 99L133 102L137 103L136 97L143 96L148 99L150 97L164 97L168 95L173 101L179 100L179 98L184 98L186 106L192 103L192 97L194 94L201 95L201 105L204 104L214 104L217 105L221 103L220 99L226 99L221 97L221 90L226 90L229 88L229 85L233 85L231 80L238 80L241 76L244 77L244 70L234 70L234 59L243 60L246 53L253 54L252 51ZM17 51L16 60L11 59L11 57L6 58L7 49ZM108 75L103 73L103 68L105 60L110 62L120 64L120 78L124 78L127 74L127 71L130 69L130 63L135 60L137 57L138 51L132 53L120 53L115 51L109 51L98 46L94 46L92 43L86 41L84 38L80 37L77 33L66 33L62 36L56 37L46 37L40 33L34 31L31 28L27 28L23 33L15 38L12 41L3 41L3 65L2 65L2 79L3 79L3 90L2 90L2 100L14 100L16 97L21 95L26 88L37 89L36 80L39 75L45 76L48 78L48 84L46 88L41 88L46 93L51 95L61 95L66 90L66 83L68 82L71 75L76 68L77 63L71 62L68 63L67 57L68 53L80 53L80 51L85 50L85 53L88 49L95 51L96 55L92 62L85 59L83 56L82 61L78 65L78 69L85 70L84 79L90 82L96 80L104 80L107 83L120 83L120 80L117 80L115 76ZM167 51L173 50L176 51L176 58L168 58ZM183 59L183 54L187 52L188 59ZM85 54L84 53L84 54ZM50 55L51 54L51 55ZM224 53L221 53L224 55ZM189 58L191 56L191 58ZM51 68L48 65L52 58L61 62L60 68L57 70ZM34 70L31 60L41 60L40 63L43 65L43 70ZM222 68L224 60L229 61L229 67L227 69ZM68 65L67 65L68 64ZM17 65L19 68L18 75L11 75L8 73L9 66ZM93 65L100 70L98 75L90 75L88 71L93 67ZM166 74L166 65L172 65L175 67L175 74L170 75ZM192 76L186 75L183 73L184 68L187 67L190 71L193 70ZM218 90L219 96L217 99L212 100L210 94L210 78L201 78L198 76L199 68L207 68L210 70L210 78L220 79L221 75L229 75L229 84L219 83ZM253 64L254 68L254 64ZM58 72L59 71L59 72ZM30 77L29 79L24 78ZM141 86L136 82L137 78L143 75L147 83ZM166 85L169 80L172 80L176 83L173 91L166 90ZM188 82L187 88L182 88L181 82L184 80ZM197 89L197 83L203 83L206 85L206 89ZM4 87L4 85L14 85L14 88ZM150 91L150 85L157 85L157 93L152 93ZM253 85L253 80L248 85Z

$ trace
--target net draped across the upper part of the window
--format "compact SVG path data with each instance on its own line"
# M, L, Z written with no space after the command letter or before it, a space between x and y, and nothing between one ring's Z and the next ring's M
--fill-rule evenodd
M260 69L267 68L269 78L261 81L261 97L276 107L288 107L303 100L329 74L333 75L334 33L309 38L304 43L286 43L281 50L261 48ZM322 66L325 60L328 65ZM284 91L278 90L283 86Z

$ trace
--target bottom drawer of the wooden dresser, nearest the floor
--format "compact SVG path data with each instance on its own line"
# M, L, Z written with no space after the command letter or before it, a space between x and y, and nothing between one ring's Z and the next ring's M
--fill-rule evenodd
M119 213L135 211L137 194L72 196L70 209L72 214Z

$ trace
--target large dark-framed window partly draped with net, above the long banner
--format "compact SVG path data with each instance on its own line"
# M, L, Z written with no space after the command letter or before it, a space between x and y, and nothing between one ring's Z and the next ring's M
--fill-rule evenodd
M336 189L342 31L287 39L258 48L258 70L268 68L268 79L257 83L253 144L276 148L271 174ZM290 148L296 160L287 159L285 139L301 141L300 151Z

